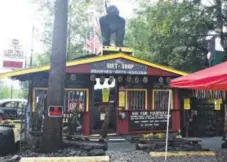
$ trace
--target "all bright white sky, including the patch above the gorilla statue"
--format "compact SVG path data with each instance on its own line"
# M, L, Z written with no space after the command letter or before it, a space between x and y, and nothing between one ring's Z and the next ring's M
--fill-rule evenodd
M35 26L34 37L34 53L41 52L43 45L40 42L42 31L39 24L38 6L31 3L32 0L0 0L0 60L3 50L8 48L11 39L19 39L25 55L30 57L32 27ZM34 0L33 0L34 1ZM155 0L147 0L155 1ZM206 3L212 3L212 0L204 0ZM127 18L132 15L135 4L130 0L110 0L111 4L115 4L120 15ZM2 68L0 61L0 73L7 70Z

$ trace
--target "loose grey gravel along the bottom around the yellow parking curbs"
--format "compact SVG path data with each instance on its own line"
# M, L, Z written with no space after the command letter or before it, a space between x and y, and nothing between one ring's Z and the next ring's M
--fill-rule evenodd
M111 162L164 162L164 158L151 158L149 153L144 151L107 151ZM54 154L39 154L31 153L29 151L20 154L27 157L60 157L60 156L86 156L86 152L75 149L65 149ZM9 159L11 156L0 157L0 162ZM217 150L217 157L169 157L167 162L226 162L227 149Z

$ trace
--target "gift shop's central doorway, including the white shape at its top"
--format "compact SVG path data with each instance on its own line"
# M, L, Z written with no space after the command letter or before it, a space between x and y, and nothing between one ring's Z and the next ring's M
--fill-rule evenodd
M102 89L109 88L110 89L110 98L109 98L109 106L110 106L110 118L109 118L109 127L108 133L116 132L116 106L117 106L117 88L115 85L115 80L108 84L108 79L105 79L103 84L100 84L99 79L96 80L96 85L93 87L92 93L92 109L91 109L91 128L92 134L100 133L102 129L102 125L105 119L105 112L102 109Z

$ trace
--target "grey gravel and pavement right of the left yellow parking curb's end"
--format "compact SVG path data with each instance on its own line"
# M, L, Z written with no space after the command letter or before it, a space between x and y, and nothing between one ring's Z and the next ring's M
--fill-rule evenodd
M227 150L220 149L221 137L202 138L202 147L217 151L216 157L169 157L167 162L227 162ZM109 143L107 154L111 162L164 162L164 158L151 158L149 153L135 150L129 142Z

